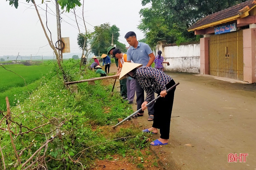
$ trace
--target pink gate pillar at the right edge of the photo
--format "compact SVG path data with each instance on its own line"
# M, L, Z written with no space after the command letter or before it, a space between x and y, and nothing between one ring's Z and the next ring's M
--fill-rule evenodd
M256 82L256 28L243 30L244 81Z

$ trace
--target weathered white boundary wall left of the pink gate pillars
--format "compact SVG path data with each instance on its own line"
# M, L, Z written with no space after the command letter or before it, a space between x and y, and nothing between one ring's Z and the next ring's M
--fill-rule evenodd
M163 64L165 71L200 73L200 43L181 44L163 44L162 56L165 62L170 66ZM161 48L161 47L160 47ZM160 48L156 47L156 53ZM163 49L164 48L164 49Z

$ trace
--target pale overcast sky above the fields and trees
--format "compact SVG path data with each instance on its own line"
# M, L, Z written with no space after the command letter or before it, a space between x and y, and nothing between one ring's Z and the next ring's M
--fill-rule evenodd
M49 0L49 13L47 13L48 27L52 32L52 39L57 41L56 27L56 6L54 0ZM21 3L22 2L22 3ZM37 5L41 4L41 0L36 0ZM81 1L82 2L82 1ZM19 7L16 9L11 7L5 0L0 0L0 56L15 55L19 53L21 56L35 55L52 55L48 41L43 33L42 26L38 19L37 13L30 3L25 0L19 0ZM144 38L144 34L137 29L140 21L139 11L142 7L141 0L85 0L84 16L88 30L93 30L93 26L101 25L109 22L120 28L119 40L128 46L124 35L128 31L135 31L137 39ZM41 7L41 8L40 8ZM46 4L38 7L44 24L46 23ZM44 9L44 10L43 10ZM82 18L82 7L76 8L76 14ZM72 54L65 54L66 57L72 57L76 53L81 52L76 43L78 29L73 13L61 14L61 31L62 37L70 37L70 48ZM81 25L83 21L78 18L81 31L85 31ZM47 33L49 33L47 31ZM47 45L48 44L48 45ZM45 46L45 47L43 47ZM42 47L42 48L40 48Z

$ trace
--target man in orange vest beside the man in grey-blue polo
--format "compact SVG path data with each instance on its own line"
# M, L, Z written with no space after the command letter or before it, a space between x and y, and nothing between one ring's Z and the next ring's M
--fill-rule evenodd
M124 62L127 62L127 54L121 53L121 50L116 48L113 50L113 57L116 57L120 60L120 69L116 73L116 75L120 75ZM126 87L127 99L129 101L129 104L132 104L135 96L135 79L128 77L126 80Z

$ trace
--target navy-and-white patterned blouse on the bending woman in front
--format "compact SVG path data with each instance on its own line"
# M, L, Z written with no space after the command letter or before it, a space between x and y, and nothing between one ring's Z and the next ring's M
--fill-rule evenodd
M150 102L154 92L160 94L167 90L166 86L172 78L164 72L152 67L139 67L133 72L134 79L137 79L142 89L146 92L145 101Z

